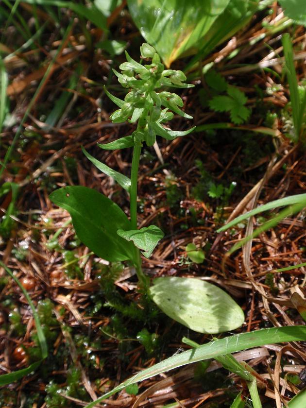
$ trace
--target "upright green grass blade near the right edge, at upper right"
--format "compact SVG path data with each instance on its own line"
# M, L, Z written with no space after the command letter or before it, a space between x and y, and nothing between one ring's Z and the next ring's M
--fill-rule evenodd
M290 35L288 33L283 34L282 36L282 44L284 47L284 55L286 61L286 72L287 78L289 82L289 90L290 90L290 101L292 107L292 118L293 124L295 129L295 136L296 139L299 139L300 130L302 123L299 122L300 118L300 99L299 99L299 89L298 89L298 82L296 78L296 72L294 68L294 55L293 55L293 48Z

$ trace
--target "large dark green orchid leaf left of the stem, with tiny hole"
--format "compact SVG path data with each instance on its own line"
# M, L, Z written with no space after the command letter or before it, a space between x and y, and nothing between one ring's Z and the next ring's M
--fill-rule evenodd
M109 262L133 260L133 244L117 235L118 229L131 228L117 204L82 186L60 188L51 193L50 199L69 212L77 236L95 254Z

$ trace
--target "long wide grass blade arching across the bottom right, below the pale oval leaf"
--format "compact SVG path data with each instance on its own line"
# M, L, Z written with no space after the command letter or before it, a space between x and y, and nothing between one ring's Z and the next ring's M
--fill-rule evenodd
M86 405L85 408L95 407L95 405L103 401L103 399L123 390L130 384L135 384L139 381L153 377L154 375L165 373L186 364L195 363L208 358L219 357L224 354L235 353L237 351L262 346L264 344L305 340L306 326L273 327L214 340L207 344L203 344L198 348L187 350L184 353L167 358L166 360L133 375L112 391L107 392L96 401Z

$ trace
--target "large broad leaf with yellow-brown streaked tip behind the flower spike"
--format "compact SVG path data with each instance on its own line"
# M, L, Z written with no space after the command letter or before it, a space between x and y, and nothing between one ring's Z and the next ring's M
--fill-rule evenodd
M183 54L194 53L229 0L128 0L142 36L169 68Z

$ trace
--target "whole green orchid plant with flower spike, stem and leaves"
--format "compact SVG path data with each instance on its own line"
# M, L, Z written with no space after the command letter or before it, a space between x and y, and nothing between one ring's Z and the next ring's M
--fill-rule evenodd
M140 153L143 144L153 146L156 136L167 140L188 135L187 131L172 131L163 124L174 114L192 119L180 108L182 99L166 89L190 88L185 84L186 75L180 70L164 69L159 55L149 44L140 47L142 65L126 52L127 62L119 66L121 73L113 70L119 83L129 91L124 101L105 93L119 109L110 119L113 123L128 120L136 124L129 136L99 144L104 150L133 148L130 178L106 166L82 148L86 157L102 172L114 178L130 197L130 220L126 214L103 194L81 186L63 187L50 198L54 204L65 208L80 240L95 254L109 261L130 261L135 267L139 289L149 294L153 301L172 319L202 333L219 333L232 330L244 320L241 308L223 290L201 280L191 278L158 278L150 288L150 280L141 267L141 255L150 257L164 233L156 225L137 228L137 182Z

